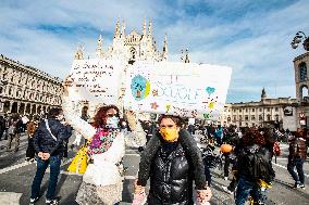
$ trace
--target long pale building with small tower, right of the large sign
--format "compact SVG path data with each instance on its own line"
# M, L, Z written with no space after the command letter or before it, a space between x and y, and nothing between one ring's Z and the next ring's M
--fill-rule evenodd
M224 113L220 117L221 125L237 127L263 126L277 124L283 129L296 129L297 100L291 98L267 98L264 89L261 101L225 104Z

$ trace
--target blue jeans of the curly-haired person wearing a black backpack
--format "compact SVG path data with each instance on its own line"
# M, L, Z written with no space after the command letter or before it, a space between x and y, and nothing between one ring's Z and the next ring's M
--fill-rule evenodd
M258 183L247 181L240 177L236 190L235 204L244 205L250 195L254 197L255 202L265 201L265 193L264 191L261 192Z

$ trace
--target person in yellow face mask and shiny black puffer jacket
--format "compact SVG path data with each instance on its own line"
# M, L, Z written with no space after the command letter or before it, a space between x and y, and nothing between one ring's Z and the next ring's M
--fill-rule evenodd
M189 205L195 181L198 198L208 201L211 191L207 187L201 153L194 138L181 129L181 118L163 115L160 130L149 140L141 154L135 193L145 192L148 178L150 190L148 204Z

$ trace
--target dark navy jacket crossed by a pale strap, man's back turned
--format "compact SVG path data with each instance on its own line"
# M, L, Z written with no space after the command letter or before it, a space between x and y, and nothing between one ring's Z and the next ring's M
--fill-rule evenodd
M51 156L62 156L63 141L71 137L72 128L62 125L58 119L48 119L48 125L57 141L48 131L45 120L41 120L34 134L35 151L49 153Z

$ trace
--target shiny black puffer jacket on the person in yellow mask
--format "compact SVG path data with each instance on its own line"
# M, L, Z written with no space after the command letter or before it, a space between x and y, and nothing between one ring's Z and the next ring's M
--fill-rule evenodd
M193 164L187 158L180 143L161 145L151 165L148 204L193 204Z

